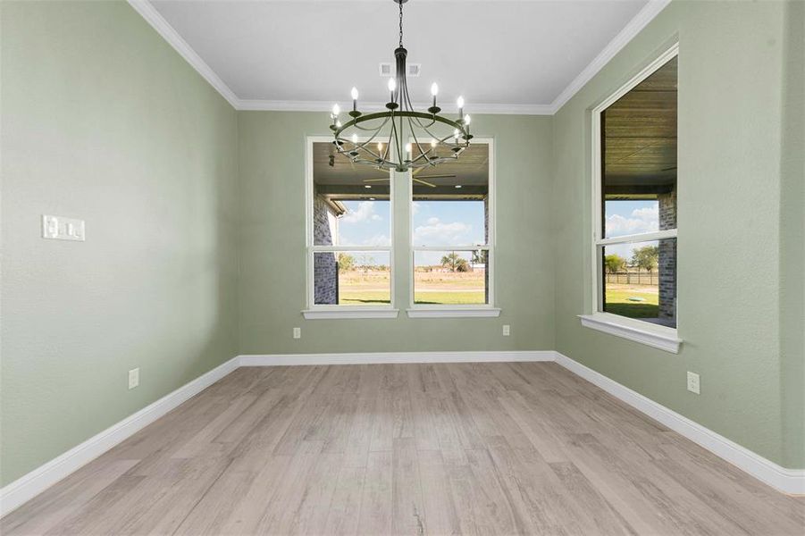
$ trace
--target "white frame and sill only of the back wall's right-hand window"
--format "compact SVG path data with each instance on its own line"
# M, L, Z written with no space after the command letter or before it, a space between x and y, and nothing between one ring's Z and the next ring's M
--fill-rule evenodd
M413 138L410 140L413 142ZM455 318L455 317L496 317L500 315L500 308L495 301L495 244L497 243L497 196L495 190L495 139L491 137L474 137L473 145L484 144L489 147L489 201L487 203L489 217L487 226L489 227L487 243L481 247L461 246L415 246L414 244L414 185L407 172L407 202L408 202L408 277L410 288L408 289L408 309L407 314L411 318ZM485 270L489 273L489 302L486 304L467 304L467 305L417 305L414 301L415 296L415 255L417 251L456 251L471 252L487 251L487 262Z

